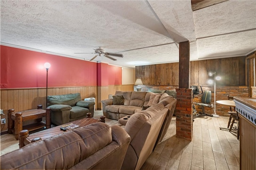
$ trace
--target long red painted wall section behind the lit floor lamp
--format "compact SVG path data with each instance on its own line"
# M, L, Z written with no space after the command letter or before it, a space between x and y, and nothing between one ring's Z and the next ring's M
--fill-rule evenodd
M0 46L0 88L97 86L97 63Z

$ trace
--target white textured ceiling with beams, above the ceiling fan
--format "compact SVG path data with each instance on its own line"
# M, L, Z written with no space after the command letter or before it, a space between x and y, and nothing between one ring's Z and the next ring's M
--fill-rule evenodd
M2 45L90 60L97 46L134 68L172 63L190 41L190 60L243 56L256 49L256 0L228 0L192 11L190 0L1 0Z

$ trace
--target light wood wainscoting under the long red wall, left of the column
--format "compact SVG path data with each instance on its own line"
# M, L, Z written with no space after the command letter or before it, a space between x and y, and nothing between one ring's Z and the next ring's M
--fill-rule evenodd
M1 125L1 132L6 131L8 127L8 109L14 109L15 111L25 111L36 109L39 104L42 104L43 109L46 109L46 88L15 88L0 89L0 91L0 108L4 110L5 114L1 116L1 119L6 118L6 124ZM70 93L80 93L82 100L84 98L96 98L97 100L97 86L48 88L48 96ZM28 121L26 123L30 124L33 122Z

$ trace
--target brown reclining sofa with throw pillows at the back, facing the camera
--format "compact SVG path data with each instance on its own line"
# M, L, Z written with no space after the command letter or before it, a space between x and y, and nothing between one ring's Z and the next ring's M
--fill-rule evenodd
M171 91L172 93L170 93ZM163 90L163 92L168 92L165 93L166 95L172 95L174 93L176 94L174 90ZM143 106L148 105L148 103L150 102L151 94L152 92L116 91L114 96L122 96L124 98L124 103L114 104L113 99L102 100L101 102L103 115L109 119L114 120L118 120L127 115L132 115L138 111L141 111ZM159 95L162 94L164 93L161 93Z

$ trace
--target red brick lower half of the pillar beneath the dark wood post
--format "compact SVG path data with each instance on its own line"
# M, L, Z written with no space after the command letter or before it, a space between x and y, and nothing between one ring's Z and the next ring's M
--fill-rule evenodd
M192 141L193 116L192 116L192 89L176 88L176 137Z

